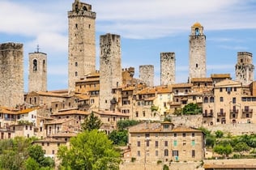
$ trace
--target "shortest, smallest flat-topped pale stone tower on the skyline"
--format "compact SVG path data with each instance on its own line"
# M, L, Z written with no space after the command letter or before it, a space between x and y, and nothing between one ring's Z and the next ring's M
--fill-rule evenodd
M147 86L154 86L154 66L139 66L139 79L146 83Z

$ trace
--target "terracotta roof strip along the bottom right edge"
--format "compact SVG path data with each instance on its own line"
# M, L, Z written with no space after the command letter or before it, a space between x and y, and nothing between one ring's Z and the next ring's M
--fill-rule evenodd
M237 160L238 161L238 160ZM239 162L239 161L238 161ZM218 169L256 169L256 165L248 164L204 164L203 168L218 168Z

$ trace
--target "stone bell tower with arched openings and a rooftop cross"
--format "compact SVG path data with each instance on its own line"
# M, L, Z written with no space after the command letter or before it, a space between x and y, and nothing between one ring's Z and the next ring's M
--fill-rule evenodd
M47 91L47 54L28 53L28 92Z

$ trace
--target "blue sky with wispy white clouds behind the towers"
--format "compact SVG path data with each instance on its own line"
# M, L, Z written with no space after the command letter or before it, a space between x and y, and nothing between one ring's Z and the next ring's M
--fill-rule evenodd
M28 91L28 53L48 57L48 90L67 89L68 19L75 0L0 0L0 43L23 44L24 91ZM256 55L254 0L80 0L96 12L96 69L99 40L106 33L121 36L122 68L153 65L160 85L160 53L174 52L176 83L189 74L191 26L203 25L207 38L207 77L231 74L235 79L237 52ZM256 60L253 59L255 65ZM254 71L256 72L256 71ZM255 76L254 76L255 77ZM255 78L254 78L255 79Z

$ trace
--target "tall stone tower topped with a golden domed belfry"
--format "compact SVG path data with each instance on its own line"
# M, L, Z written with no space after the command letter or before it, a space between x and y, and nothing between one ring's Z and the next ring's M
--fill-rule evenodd
M191 78L205 78L207 74L206 36L200 23L194 23L191 27L189 72L189 81Z

